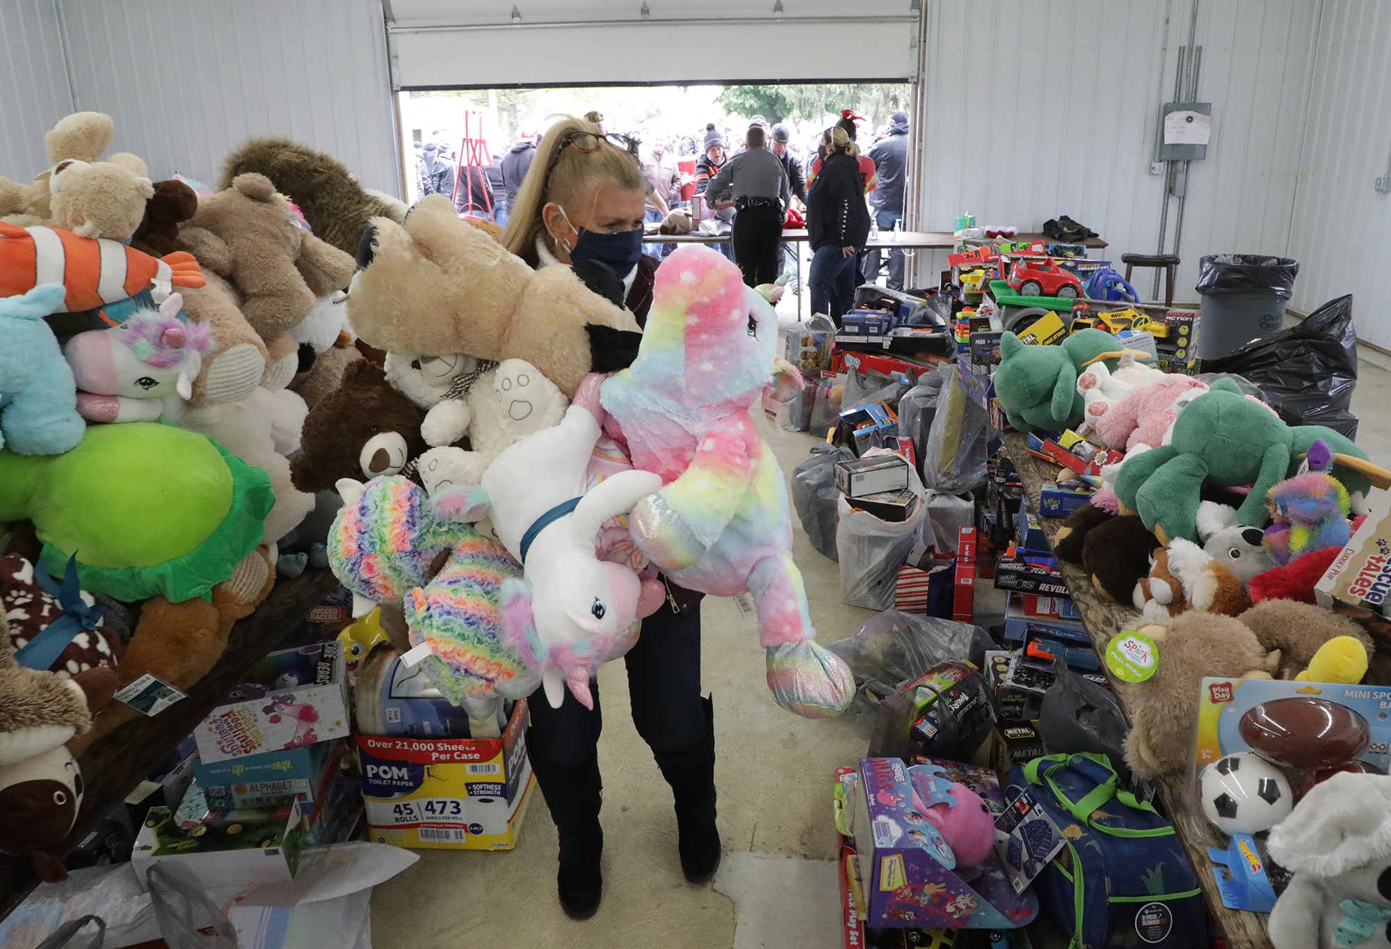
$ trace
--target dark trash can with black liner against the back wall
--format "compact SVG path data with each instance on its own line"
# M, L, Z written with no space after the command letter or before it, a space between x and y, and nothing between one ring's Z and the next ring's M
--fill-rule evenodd
M1221 359L1252 340L1278 333L1295 292L1299 262L1260 253L1213 253L1198 269L1202 319L1198 358Z

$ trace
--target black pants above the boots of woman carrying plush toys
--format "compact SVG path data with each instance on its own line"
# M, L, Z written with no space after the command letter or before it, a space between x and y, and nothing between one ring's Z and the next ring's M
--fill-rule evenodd
M654 751L682 751L705 733L700 699L700 604L672 612L670 601L643 621L637 646L623 657L637 733ZM594 757L604 728L598 682L590 682L594 711L569 690L551 708L545 690L531 693L527 751L533 761L563 767Z

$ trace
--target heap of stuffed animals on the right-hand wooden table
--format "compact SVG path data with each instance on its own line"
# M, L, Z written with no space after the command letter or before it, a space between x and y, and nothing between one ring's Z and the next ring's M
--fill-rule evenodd
M1017 429L1074 429L1124 452L1054 552L1160 644L1159 671L1118 686L1127 764L1155 778L1189 765L1203 676L1360 682L1372 637L1314 605L1314 583L1391 473L1331 429L1285 424L1232 380L1167 374L1138 355L1099 330L1061 345L1007 333L996 394Z

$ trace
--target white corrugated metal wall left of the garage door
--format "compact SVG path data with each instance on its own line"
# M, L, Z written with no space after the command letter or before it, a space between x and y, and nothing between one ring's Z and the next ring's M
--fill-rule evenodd
M50 3L7 4L22 15L0 18L4 68L33 70L7 86L7 177L42 170L43 132L79 109L110 114L111 149L139 154L154 178L213 185L243 141L287 135L399 193L380 0L56 0L56 15L28 11Z

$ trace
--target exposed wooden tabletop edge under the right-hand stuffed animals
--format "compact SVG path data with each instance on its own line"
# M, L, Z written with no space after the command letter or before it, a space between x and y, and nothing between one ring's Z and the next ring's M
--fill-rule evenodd
M1004 436L1004 448L1010 455L1010 461L1014 462L1014 468L1020 472L1020 480L1024 483L1024 495L1028 500L1029 508L1038 513L1039 491L1042 490L1043 479L1047 477L1052 480L1057 475L1057 469L1031 455L1028 452L1028 437L1018 431ZM1039 516L1039 526L1043 527L1043 534L1047 537L1049 547L1052 547L1053 539L1063 526L1063 520L1060 518ZM1059 561L1059 569L1067 580L1072 603L1077 605L1078 612L1082 614L1082 622L1092 637L1092 644L1096 647L1097 654L1104 654L1106 643L1110 637L1123 629L1134 629L1139 621L1139 614L1128 607L1102 598L1079 566ZM1120 690L1117 689L1118 694ZM1121 705L1124 707L1124 699L1121 699ZM1264 913L1228 910L1221 904L1221 893L1217 891L1217 881L1213 878L1213 863L1207 857L1207 847L1225 847L1227 840L1207 822L1207 818L1203 817L1202 808L1196 803L1185 802L1187 772L1160 779L1155 783L1159 789L1159 807L1173 821L1178 836L1184 842L1184 847L1188 850L1188 859L1192 860L1193 870L1198 871L1198 879L1202 882L1203 893L1207 896L1207 904L1227 932L1227 945L1231 949L1271 949L1270 936L1266 934L1266 920L1269 917Z

